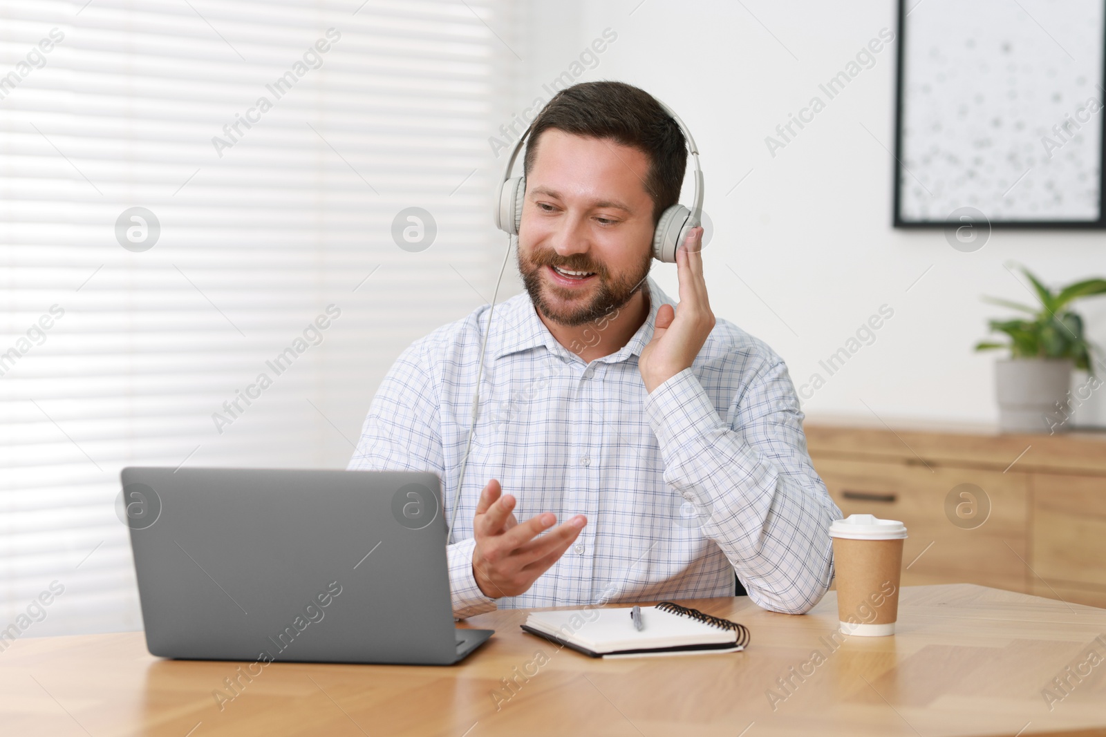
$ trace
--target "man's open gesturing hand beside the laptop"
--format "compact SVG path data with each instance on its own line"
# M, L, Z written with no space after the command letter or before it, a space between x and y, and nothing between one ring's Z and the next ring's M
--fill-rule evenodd
M503 494L499 482L492 478L480 493L472 518L477 540L472 575L484 596L492 599L528 591L587 524L586 517L576 515L549 535L538 537L556 523L556 516L546 512L520 524L512 509L514 497Z

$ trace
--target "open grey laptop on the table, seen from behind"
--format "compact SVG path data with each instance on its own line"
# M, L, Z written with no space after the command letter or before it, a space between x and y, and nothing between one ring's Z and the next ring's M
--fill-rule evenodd
M154 655L446 665L492 634L453 627L436 474L121 475Z

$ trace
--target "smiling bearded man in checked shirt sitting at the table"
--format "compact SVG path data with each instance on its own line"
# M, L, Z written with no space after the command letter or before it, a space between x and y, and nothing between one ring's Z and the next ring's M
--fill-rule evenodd
M490 328L486 305L416 340L380 385L349 468L439 474L455 617L733 596L734 572L761 607L802 613L830 587L841 512L786 367L716 320L701 228L677 253L678 307L648 278L686 164L644 91L562 91L524 158L525 294Z

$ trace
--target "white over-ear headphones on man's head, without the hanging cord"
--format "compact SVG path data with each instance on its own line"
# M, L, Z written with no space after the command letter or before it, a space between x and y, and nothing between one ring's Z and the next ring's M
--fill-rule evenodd
M699 168L699 148L695 144L695 138L691 137L691 131L688 130L687 126L684 125L684 120L679 118L672 108L665 105L659 99L657 101L666 113L668 113L676 125L680 127L684 133L684 137L688 143L688 151L691 154L691 158L695 160L695 201L691 204L691 209L688 210L682 204L674 204L672 207L660 213L660 220L657 222L657 228L653 232L653 255L658 261L664 261L666 263L676 263L676 249L682 243L687 236L688 232L692 228L697 228L702 221L702 197L703 197L703 186L702 186L702 169ZM530 131L533 129L533 125L526 128L522 137L514 145L514 150L511 151L511 158L507 161L507 169L503 171L503 178L499 182L499 190L495 192L495 204L493 217L495 219L495 227L501 231L509 233L511 235L519 234L519 225L522 223L522 200L526 194L526 178L523 177L512 177L511 169L514 168L514 160L519 157L519 151L522 150L522 144L530 136Z

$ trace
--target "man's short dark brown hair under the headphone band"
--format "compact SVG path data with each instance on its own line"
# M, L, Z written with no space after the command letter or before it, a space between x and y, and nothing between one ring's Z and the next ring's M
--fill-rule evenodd
M624 82L582 82L553 96L534 118L522 170L530 173L538 141L547 128L588 138L611 138L649 157L645 191L653 224L679 202L688 151L676 120L649 93Z

